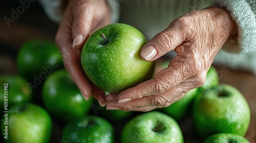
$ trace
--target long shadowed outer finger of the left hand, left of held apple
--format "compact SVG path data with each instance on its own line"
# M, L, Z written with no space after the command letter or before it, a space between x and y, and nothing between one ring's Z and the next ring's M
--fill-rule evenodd
M80 89L84 99L88 101L91 94L91 85L80 64L80 51L73 49L72 47L72 16L67 11L65 12L65 16L61 21L55 41L61 50L66 70L76 83L77 87Z

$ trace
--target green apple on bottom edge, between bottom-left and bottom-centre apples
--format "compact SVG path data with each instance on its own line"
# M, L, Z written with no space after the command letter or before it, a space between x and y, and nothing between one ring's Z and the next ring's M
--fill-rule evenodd
M114 142L114 128L104 118L83 116L66 125L62 138L72 143Z

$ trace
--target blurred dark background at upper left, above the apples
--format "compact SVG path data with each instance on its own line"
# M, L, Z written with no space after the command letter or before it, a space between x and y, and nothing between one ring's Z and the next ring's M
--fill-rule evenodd
M13 19L13 10L17 12L20 6L19 0L0 1L0 75L17 74L16 55L24 42L31 39L54 41L58 29L58 23L49 19L37 1L31 2L24 11L18 9L20 14ZM9 23L7 17L12 19Z

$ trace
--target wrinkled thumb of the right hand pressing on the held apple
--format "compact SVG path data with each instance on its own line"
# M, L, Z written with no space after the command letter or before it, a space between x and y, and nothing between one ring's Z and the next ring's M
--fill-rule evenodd
M145 61L154 61L167 52L174 50L185 40L184 32L175 24L156 34L142 48L140 56Z

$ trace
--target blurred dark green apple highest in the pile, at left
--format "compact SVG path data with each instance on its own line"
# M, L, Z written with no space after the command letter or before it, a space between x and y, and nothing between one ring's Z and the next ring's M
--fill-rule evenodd
M45 40L29 40L20 48L17 56L19 74L36 88L56 69L63 68L58 47Z

